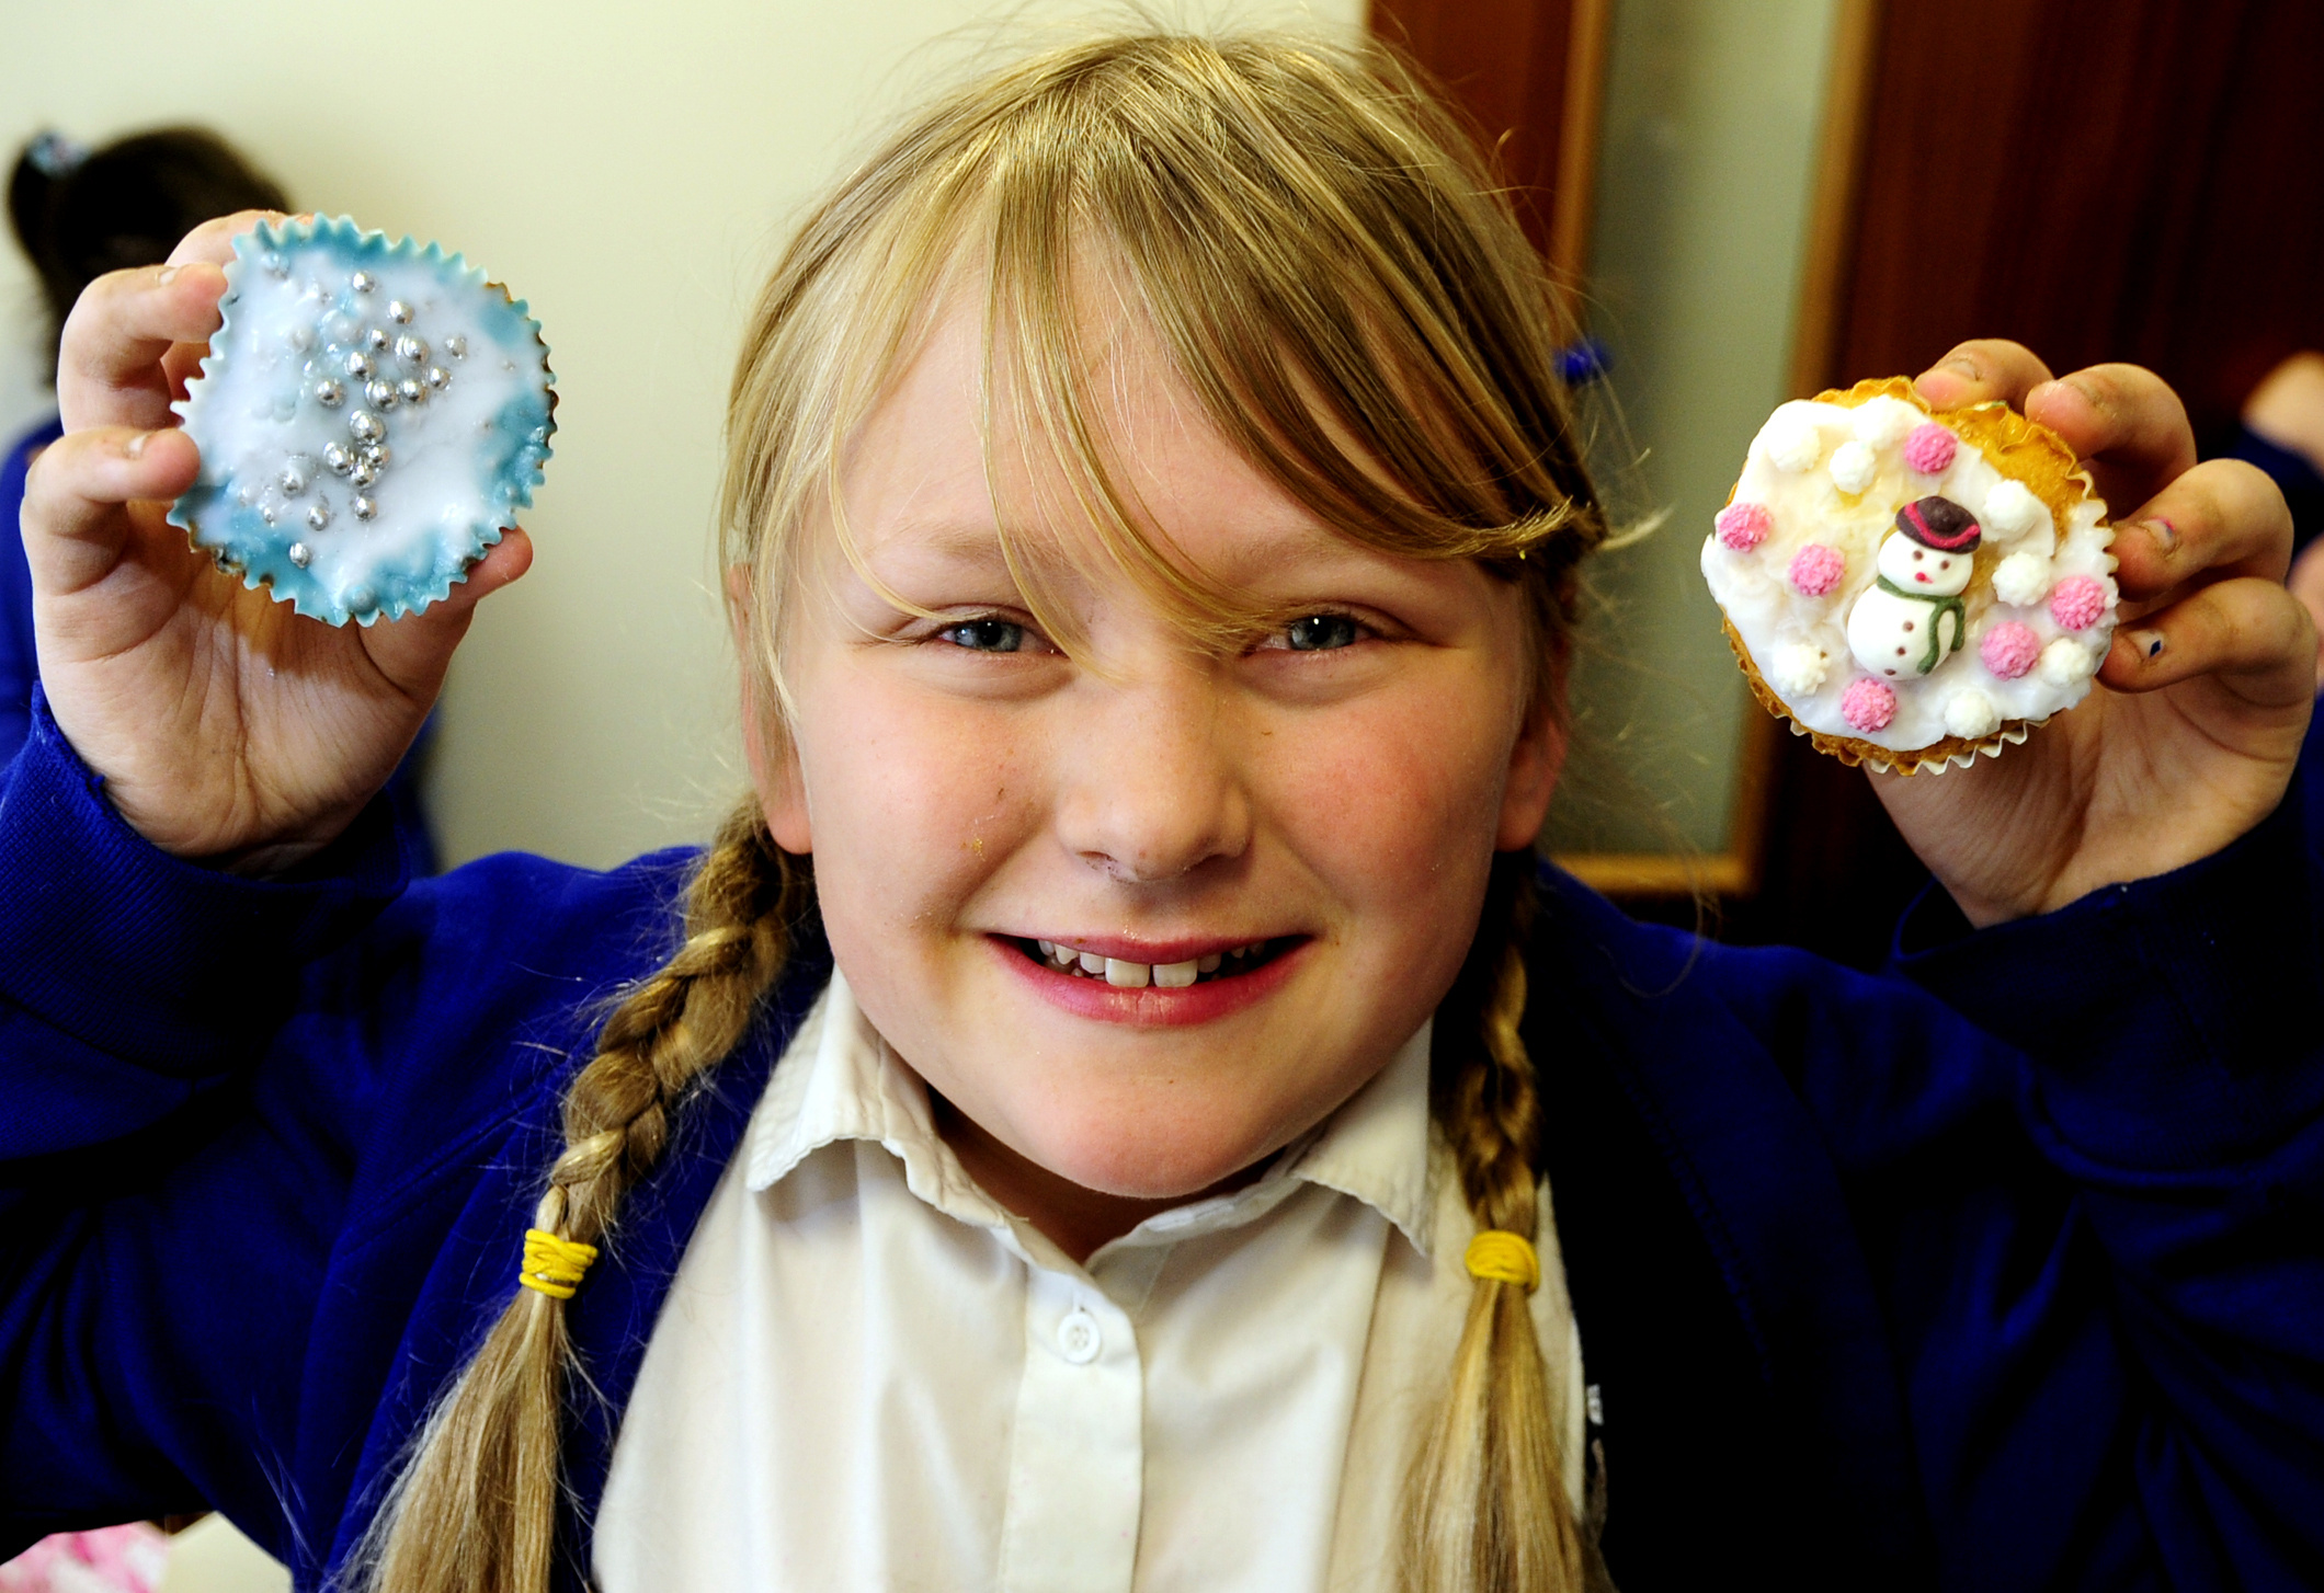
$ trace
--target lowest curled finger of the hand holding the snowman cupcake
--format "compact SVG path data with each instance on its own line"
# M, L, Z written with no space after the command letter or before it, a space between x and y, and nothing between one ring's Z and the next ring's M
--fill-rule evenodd
M2315 659L2308 608L2280 583L2243 576L2117 629L2099 680L2117 692L2152 692L2217 676L2254 706L2287 708L2315 694Z

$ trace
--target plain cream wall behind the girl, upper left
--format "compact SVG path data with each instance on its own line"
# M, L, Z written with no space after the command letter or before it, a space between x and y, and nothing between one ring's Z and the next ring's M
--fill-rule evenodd
M1364 0L1160 5L1353 30ZM430 794L453 862L700 838L741 790L709 516L727 365L786 223L962 63L1127 12L1050 0L77 0L0 53L0 142L207 121L300 204L442 239L532 302L558 372L535 571L490 601ZM0 313L30 327L21 260ZM46 406L30 330L0 423Z

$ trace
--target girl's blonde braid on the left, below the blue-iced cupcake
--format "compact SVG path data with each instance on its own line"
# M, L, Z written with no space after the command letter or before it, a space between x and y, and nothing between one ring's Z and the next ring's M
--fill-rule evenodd
M595 1245L669 1143L669 1110L751 1026L813 903L804 857L755 801L702 859L686 943L614 1008L565 1094L565 1152L535 1226ZM370 1593L546 1593L562 1498L565 1303L511 1289L474 1361L421 1430L353 1560Z

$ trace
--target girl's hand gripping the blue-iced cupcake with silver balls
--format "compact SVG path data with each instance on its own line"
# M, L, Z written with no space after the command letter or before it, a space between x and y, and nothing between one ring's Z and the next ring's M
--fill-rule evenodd
M163 516L200 455L186 395L225 290L211 221L167 265L100 276L65 323L65 437L23 499L40 678L56 722L153 845L249 873L288 868L363 810L411 745L476 601L532 562L502 536L451 599L332 629L246 590Z

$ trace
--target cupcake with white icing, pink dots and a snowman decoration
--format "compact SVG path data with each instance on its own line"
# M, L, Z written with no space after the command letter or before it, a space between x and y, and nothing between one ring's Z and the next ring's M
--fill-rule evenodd
M2073 450L1903 376L1783 404L1703 541L1752 694L1850 764L1943 773L2082 701L2113 527Z

